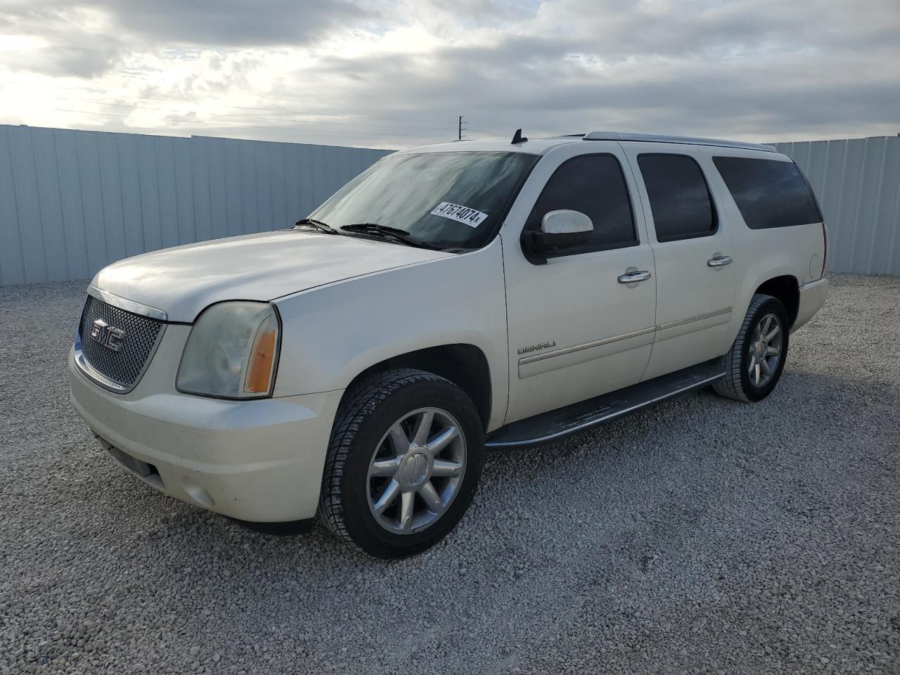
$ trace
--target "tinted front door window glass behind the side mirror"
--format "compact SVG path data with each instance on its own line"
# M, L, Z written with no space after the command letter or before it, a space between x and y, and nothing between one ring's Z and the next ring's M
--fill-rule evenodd
M563 162L537 198L525 229L540 229L544 214L559 209L587 215L594 223L594 234L584 246L566 248L552 257L637 244L625 175L612 155L580 155Z

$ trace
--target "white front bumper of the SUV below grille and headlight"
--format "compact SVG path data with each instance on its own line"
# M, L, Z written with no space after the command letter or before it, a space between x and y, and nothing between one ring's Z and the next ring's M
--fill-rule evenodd
M241 520L315 516L343 392L220 401L174 389L149 392L145 383L157 378L148 370L133 392L121 395L88 381L71 353L68 369L78 413L104 445L138 460L110 450L158 491Z

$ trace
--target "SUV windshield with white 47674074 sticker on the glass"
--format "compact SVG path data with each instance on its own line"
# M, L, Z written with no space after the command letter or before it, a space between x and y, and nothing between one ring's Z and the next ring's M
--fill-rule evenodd
M310 218L332 228L375 223L401 229L431 247L482 247L537 158L521 152L384 157Z

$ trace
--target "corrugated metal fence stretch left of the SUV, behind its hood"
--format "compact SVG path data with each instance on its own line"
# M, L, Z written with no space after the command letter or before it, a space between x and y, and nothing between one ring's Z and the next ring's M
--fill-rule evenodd
M287 227L386 154L0 125L0 285Z

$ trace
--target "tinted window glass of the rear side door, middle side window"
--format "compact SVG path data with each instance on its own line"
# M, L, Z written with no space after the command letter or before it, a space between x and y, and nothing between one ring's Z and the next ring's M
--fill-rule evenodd
M638 155L658 241L708 237L716 232L716 207L693 157Z

